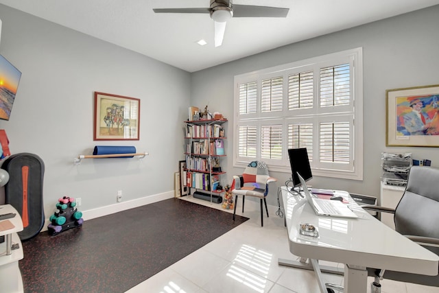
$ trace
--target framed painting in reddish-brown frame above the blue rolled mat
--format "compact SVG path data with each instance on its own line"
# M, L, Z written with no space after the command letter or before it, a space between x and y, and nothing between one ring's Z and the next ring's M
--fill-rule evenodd
M95 141L138 141L140 99L95 92Z

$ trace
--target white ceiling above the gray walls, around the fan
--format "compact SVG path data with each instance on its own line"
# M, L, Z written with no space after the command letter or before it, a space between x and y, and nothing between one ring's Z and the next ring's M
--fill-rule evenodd
M209 8L209 0L0 0L29 14L193 72L246 56L439 4L439 0L235 0L289 8L286 19L235 18L214 47L209 14L153 8ZM3 23L3 27L5 27ZM207 45L197 41L204 38Z

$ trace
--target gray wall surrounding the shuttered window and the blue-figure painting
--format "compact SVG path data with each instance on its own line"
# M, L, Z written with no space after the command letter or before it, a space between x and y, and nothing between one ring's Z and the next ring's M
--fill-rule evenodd
M377 21L350 30L287 45L192 74L192 104L228 118L228 137L233 131L233 78L237 74L282 65L296 60L322 56L336 51L363 47L364 58L364 180L340 180L315 177L317 187L345 189L359 194L379 196L381 152L412 152L415 159L431 159L438 167L437 148L396 148L385 146L385 90L439 84L439 6L418 10L392 19ZM209 98L206 98L209 97ZM233 145L226 144L231 155ZM227 180L242 169L233 167L228 157ZM273 172L278 185L290 174ZM276 204L276 188L268 198Z

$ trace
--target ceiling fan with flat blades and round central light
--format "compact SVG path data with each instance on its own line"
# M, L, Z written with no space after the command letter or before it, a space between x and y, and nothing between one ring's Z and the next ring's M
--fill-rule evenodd
M156 13L209 13L215 21L215 47L222 45L226 22L232 17L287 17L289 8L234 5L231 0L210 0L209 8L156 8Z

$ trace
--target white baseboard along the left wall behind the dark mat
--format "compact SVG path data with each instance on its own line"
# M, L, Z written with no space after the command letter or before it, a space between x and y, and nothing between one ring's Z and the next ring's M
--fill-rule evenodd
M96 209L89 209L87 211L82 211L82 218L84 221L91 220L94 218L99 218L104 215L110 215L112 213L117 213L119 211L126 211L127 209L134 209L135 207L141 207L145 204L152 204L154 202L159 202L161 200L167 200L169 198L174 198L174 191L167 191L163 194L154 194L152 196L145 196L143 198L137 198L135 200L128 200L126 202L117 202L115 204L110 204L105 207L98 207ZM81 209L78 207L78 210ZM50 217L50 215L49 215ZM45 220L43 226L43 231L47 231L47 225L49 225L49 218Z

